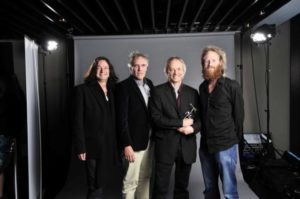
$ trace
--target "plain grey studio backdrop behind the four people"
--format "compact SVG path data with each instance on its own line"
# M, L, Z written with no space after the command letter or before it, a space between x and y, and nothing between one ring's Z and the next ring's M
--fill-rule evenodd
M170 56L179 56L187 66L184 83L198 90L203 81L200 57L202 49L207 45L216 45L225 50L226 76L235 79L235 32L74 37L74 83L77 85L83 82L84 73L98 56L105 56L112 62L120 80L127 78L128 54L138 50L149 56L147 77L155 85L167 80L163 72L167 59ZM198 146L199 137L198 134ZM173 185L173 176L171 179L170 186ZM199 157L191 171L189 189L190 198L199 197L204 190ZM171 190L170 188L169 191Z

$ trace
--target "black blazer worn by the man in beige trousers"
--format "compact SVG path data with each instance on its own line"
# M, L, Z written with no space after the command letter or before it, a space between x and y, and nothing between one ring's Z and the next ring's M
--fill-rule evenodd
M152 81L145 79L150 90ZM151 117L143 95L132 76L116 87L117 132L120 150L131 145L134 151L145 150L149 142Z

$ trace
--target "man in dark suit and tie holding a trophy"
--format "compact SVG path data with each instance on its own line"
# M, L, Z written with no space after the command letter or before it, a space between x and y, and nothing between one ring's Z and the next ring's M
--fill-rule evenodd
M200 129L199 95L182 83L186 65L170 57L165 66L168 82L154 88L150 99L155 138L155 181L153 199L167 197L175 163L174 198L188 199L192 164L196 161L196 133Z

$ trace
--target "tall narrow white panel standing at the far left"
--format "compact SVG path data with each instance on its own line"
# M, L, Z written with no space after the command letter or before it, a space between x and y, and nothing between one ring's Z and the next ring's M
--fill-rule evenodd
M27 141L28 141L28 187L29 198L41 198L41 122L38 87L38 46L25 37ZM26 182L24 182L26 184Z

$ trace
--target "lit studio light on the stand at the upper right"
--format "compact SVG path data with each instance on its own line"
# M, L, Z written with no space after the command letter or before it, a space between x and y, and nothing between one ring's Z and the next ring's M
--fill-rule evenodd
M254 43L265 43L275 37L276 28L275 24L263 24L258 27L251 35L251 39Z

